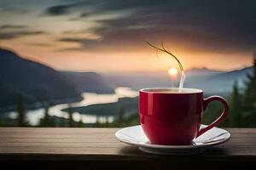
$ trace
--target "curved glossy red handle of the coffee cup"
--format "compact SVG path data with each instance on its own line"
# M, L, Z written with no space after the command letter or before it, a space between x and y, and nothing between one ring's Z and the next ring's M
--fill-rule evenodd
M228 102L220 97L220 96L211 96L208 97L207 99L203 99L203 111L206 110L207 105L212 102L212 101L218 101L223 105L223 111L220 116L218 116L218 119L216 119L214 122L212 122L210 125L208 125L205 128L202 128L199 130L199 132L196 135L196 138L199 137L202 133L206 133L208 130L210 130L212 127L215 127L218 125L218 123L224 121L224 119L228 116L229 114L229 105Z

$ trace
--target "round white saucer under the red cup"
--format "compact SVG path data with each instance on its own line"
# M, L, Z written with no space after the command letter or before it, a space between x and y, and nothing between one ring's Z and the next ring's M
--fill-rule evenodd
M207 127L201 125L201 128ZM160 155L191 155L201 153L208 147L216 144L222 144L230 139L228 131L213 127L211 130L203 133L200 137L193 140L189 145L160 145L150 144L148 138L143 133L141 126L125 127L115 133L115 137L125 144L138 146L140 150L148 153Z

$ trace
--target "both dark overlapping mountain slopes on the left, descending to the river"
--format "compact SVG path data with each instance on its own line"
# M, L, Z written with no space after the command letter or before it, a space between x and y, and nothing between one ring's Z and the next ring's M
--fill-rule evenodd
M113 88L94 72L55 71L0 48L0 108L16 105L18 95L26 104L45 100L55 104L82 99L82 92L111 93Z

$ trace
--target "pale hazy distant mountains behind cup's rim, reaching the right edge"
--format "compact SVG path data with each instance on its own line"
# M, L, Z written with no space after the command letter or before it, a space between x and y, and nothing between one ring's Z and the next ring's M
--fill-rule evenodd
M215 71L207 68L193 68L185 71L185 88L201 88L205 94L230 94L235 80L243 88L246 75L252 67L236 71ZM129 86L134 89L178 87L179 77L173 81L167 71L138 71L132 73L105 74L112 86Z

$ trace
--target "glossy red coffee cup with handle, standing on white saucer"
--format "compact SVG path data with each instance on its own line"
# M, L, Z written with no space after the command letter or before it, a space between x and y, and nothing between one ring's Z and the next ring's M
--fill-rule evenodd
M209 126L200 129L207 105L219 101L223 112ZM191 144L192 140L224 121L229 113L227 101L220 96L203 98L195 88L143 88L139 94L139 116L143 131L152 144Z

